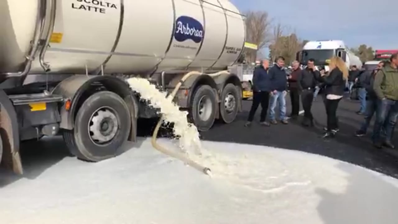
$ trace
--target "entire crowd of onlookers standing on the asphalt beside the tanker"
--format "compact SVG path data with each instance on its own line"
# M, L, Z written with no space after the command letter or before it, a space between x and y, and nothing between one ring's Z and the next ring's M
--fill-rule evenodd
M289 117L298 118L301 101L304 110L301 124L312 127L312 102L321 92L327 115L323 137L334 137L339 131L336 111L347 90L350 96L357 93L360 101L357 114L365 116L355 136L365 136L371 119L376 114L371 137L373 144L378 148L383 145L394 148L391 138L398 116L398 54L393 54L389 61L380 61L374 70L359 69L356 66L348 69L339 57L328 60L328 71L325 67L317 67L314 59L309 59L304 67L298 61L293 61L291 72L287 74L283 57L278 57L272 67L268 60L262 60L253 73L253 102L245 126L252 124L260 104L261 125L278 124L275 109L279 110L278 120L282 124L289 124L285 101L289 92L292 104ZM268 109L269 122L266 120Z

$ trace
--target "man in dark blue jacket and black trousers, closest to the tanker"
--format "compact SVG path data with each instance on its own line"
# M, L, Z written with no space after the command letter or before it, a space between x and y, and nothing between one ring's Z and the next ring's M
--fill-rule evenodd
M246 127L252 124L254 114L256 113L259 104L261 104L260 124L263 126L269 126L269 123L265 121L269 104L269 92L271 91L271 76L268 74L268 67L268 60L262 60L261 65L254 69L253 102L252 108L250 108L248 122L245 124Z

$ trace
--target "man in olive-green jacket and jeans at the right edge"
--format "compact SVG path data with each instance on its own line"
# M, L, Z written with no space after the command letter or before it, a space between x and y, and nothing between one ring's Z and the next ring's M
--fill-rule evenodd
M382 145L394 148L391 136L398 116L398 53L391 55L390 64L377 72L373 90L378 98L373 144L377 148L381 148ZM386 137L382 140L381 130L384 122Z

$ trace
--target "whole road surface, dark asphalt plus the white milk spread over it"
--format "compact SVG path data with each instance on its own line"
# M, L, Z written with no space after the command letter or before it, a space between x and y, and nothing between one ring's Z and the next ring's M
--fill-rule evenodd
M212 157L199 162L212 169L213 179L158 153L142 137L118 157L99 163L68 157L59 137L25 143L24 175L0 169L1 220L8 224L396 223L397 153L375 149L368 138L353 136L363 120L355 114L357 102L341 102L341 131L332 140L320 138L326 123L320 100L313 106L315 128L300 126L300 120L244 128L250 104L244 102L244 112L232 124L216 124L201 133ZM287 98L288 113L289 104ZM144 123L147 129L140 135L145 137L153 125ZM160 142L175 147L172 140Z

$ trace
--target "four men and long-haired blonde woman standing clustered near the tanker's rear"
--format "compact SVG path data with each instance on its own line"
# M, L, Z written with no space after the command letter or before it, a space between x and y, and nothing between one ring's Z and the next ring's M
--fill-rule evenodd
M336 111L339 101L343 98L345 83L348 78L348 69L344 61L339 57L332 57L329 62L330 72L318 71L315 60L309 59L305 69L300 68L300 63L294 61L292 73L287 76L284 70L285 59L278 57L273 67L269 68L267 60L261 61L261 65L256 67L253 74L253 103L249 112L248 122L245 126L250 126L254 119L254 114L261 104L260 124L270 126L266 122L267 110L269 108L269 120L271 124L277 124L275 119L275 108L279 103L279 116L282 124L288 124L286 117L285 96L289 89L292 112L290 117L296 119L300 108L300 96L304 109L304 119L302 125L314 126L311 112L314 96L319 89L324 90L324 103L327 114L327 127L325 128L324 138L334 137L338 132L338 119ZM289 86L288 86L289 83Z

